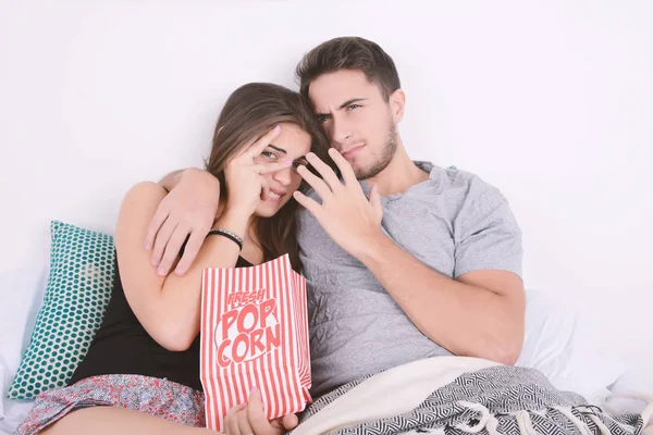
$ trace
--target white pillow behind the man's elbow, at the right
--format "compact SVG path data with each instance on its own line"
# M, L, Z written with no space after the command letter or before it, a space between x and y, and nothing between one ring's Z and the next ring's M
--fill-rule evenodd
M526 336L515 365L537 369L557 389L603 403L608 387L626 373L625 362L599 341L589 319L577 309L543 291L526 295Z

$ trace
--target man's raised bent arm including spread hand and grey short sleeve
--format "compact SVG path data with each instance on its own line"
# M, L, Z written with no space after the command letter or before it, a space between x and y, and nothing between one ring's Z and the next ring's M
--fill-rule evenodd
M509 216L501 214L500 198L495 196L485 204L480 200L468 203L475 213L465 213L459 221L457 279L451 279L383 234L377 186L372 186L368 200L349 163L333 149L330 154L341 169L344 184L323 162L308 154L323 178L303 166L298 171L322 203L300 192L295 192L296 200L341 248L374 274L431 340L455 355L515 363L523 341L525 294L521 278L508 271L518 270L515 259L520 263L521 252L513 248L519 241L518 229L502 224ZM472 214L473 219L465 220ZM501 247L508 247L509 253L502 252Z

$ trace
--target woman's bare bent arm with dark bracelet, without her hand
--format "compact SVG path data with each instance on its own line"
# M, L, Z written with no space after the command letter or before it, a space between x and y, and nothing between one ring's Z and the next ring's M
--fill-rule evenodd
M115 228L118 264L125 297L140 324L162 347L185 350L199 333L201 274L205 268L233 268L238 246L232 240L206 238L188 272L160 276L151 252L143 245L148 225L165 189L157 183L139 183L125 196ZM226 211L220 226L243 236L249 216Z

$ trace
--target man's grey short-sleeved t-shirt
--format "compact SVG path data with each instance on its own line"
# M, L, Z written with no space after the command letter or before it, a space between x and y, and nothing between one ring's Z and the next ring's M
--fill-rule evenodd
M521 276L521 232L503 195L473 174L415 163L430 179L382 198L385 234L452 278L486 269ZM369 185L361 186L368 196ZM321 202L313 191L309 196ZM298 238L308 285L313 397L368 374L451 355L412 324L307 210L299 214Z

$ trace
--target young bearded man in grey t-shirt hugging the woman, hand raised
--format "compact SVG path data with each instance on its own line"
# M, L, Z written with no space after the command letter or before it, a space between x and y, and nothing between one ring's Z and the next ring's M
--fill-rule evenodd
M506 199L472 174L408 157L397 128L406 96L374 42L329 40L304 57L297 75L342 172L338 179L309 154L322 178L300 169L312 189L295 196L304 206L313 396L428 357L514 364L526 302L521 235ZM183 273L210 228L219 189L207 175L164 181L170 201L148 239L161 273L190 234ZM176 237L159 231L163 221Z

